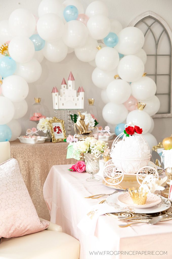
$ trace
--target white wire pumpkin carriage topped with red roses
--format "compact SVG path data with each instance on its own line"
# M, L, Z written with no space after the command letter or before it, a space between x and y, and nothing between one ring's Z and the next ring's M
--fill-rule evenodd
M105 163L103 170L103 179L108 186L115 188L122 182L124 175L135 175L139 185L149 174L159 178L156 165L150 161L149 145L141 134L142 129L129 122L124 132L113 141L112 159ZM121 137L122 140L119 140Z

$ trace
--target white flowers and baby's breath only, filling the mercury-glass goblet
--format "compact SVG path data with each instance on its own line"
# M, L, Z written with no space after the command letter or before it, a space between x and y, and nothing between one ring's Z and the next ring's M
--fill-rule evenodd
M88 137L83 141L78 141L75 144L75 150L79 150L82 153L89 153L95 157L103 155L104 151L108 149L108 143L102 140L96 140L95 138Z

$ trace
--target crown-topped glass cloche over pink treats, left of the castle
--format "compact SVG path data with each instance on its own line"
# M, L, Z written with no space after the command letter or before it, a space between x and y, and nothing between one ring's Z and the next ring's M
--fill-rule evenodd
M31 107L30 119L31 121L39 122L40 119L46 118L44 106L40 103L41 98L34 98L35 103Z

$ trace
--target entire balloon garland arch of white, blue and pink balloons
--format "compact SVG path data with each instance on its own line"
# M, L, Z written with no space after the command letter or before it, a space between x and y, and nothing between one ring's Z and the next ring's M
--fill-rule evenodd
M154 81L142 77L146 62L142 31L122 29L119 21L108 18L108 8L101 1L90 3L84 13L79 0L63 4L42 0L38 16L21 8L0 22L0 42L4 43L0 48L0 141L12 141L21 134L17 119L27 112L28 83L41 76L43 58L60 62L73 51L79 60L95 67L92 81L102 89L104 120L119 124L118 134L125 120L133 121L152 140L150 116L159 110L160 102ZM144 111L137 110L138 101L147 104Z

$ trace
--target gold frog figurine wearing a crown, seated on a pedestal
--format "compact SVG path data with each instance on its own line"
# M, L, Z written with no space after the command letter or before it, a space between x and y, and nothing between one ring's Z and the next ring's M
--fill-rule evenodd
M75 133L78 135L90 133L90 131L88 131L89 123L85 125L85 115L82 115L80 111L78 111L78 115L77 122L74 124Z

